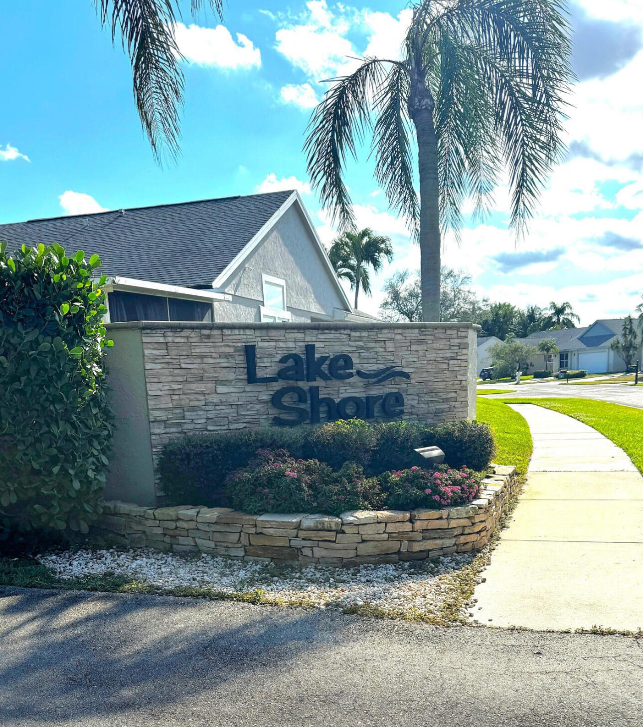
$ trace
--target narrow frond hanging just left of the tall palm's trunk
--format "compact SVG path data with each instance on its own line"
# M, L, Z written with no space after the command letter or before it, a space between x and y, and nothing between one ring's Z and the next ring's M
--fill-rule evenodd
M379 115L373 129L373 151L376 180L389 204L410 222L417 236L420 209L413 183L408 92L408 72L403 65L394 65L374 101Z

